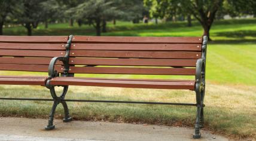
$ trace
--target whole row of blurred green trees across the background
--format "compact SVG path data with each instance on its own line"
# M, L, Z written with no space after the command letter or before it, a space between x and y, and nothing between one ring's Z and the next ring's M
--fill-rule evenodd
M255 0L0 0L0 35L5 24L20 24L28 35L39 23L69 22L73 26L89 24L96 35L106 32L107 22L129 20L138 23L144 16L158 20L197 20L209 37L215 19L256 16Z

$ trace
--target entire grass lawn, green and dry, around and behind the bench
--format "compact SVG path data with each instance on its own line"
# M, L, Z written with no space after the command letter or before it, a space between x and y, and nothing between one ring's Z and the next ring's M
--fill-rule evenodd
M256 138L256 19L216 21L211 29L206 65L205 120L206 129L236 139ZM194 22L161 24L108 23L104 36L201 36L202 27ZM34 35L95 35L90 26L68 27L68 24L40 25ZM5 35L26 35L24 27L4 29ZM0 75L47 75L1 71ZM188 78L166 75L77 75L115 78ZM51 98L44 87L0 86L1 97ZM70 87L67 99L143 100L150 102L195 102L193 91L149 90L135 88ZM44 117L51 102L0 102L3 116ZM111 103L68 103L75 119L139 122L193 127L196 108L188 106L130 105ZM63 115L59 106L57 117Z

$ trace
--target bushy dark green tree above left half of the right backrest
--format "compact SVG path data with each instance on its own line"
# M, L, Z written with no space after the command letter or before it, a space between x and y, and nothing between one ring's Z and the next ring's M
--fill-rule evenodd
M119 11L110 0L89 0L68 12L74 14L77 19L86 19L86 23L92 24L96 29L96 35L100 36L102 27L106 27L106 19L112 19ZM106 30L104 28L103 30Z

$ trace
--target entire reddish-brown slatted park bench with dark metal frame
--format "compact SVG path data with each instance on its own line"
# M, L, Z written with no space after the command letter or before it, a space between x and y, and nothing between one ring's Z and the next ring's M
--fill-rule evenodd
M49 88L53 107L46 130L54 128L54 112L59 103L62 103L65 112L63 121L71 121L67 101L187 105L197 107L193 137L200 138L205 106L206 44L206 36L0 36L0 70L48 72L45 77L0 76L0 84L42 85ZM75 77L76 73L190 75L195 79L86 78ZM69 85L192 90L196 92L196 103L69 100L65 99ZM63 87L61 96L57 96L56 86Z

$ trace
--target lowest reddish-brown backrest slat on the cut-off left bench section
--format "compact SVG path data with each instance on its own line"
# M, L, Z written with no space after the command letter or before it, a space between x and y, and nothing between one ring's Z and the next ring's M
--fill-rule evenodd
M56 66L58 72L62 72L62 66ZM16 70L29 72L48 72L48 65L17 65L17 64L1 64L0 70Z

